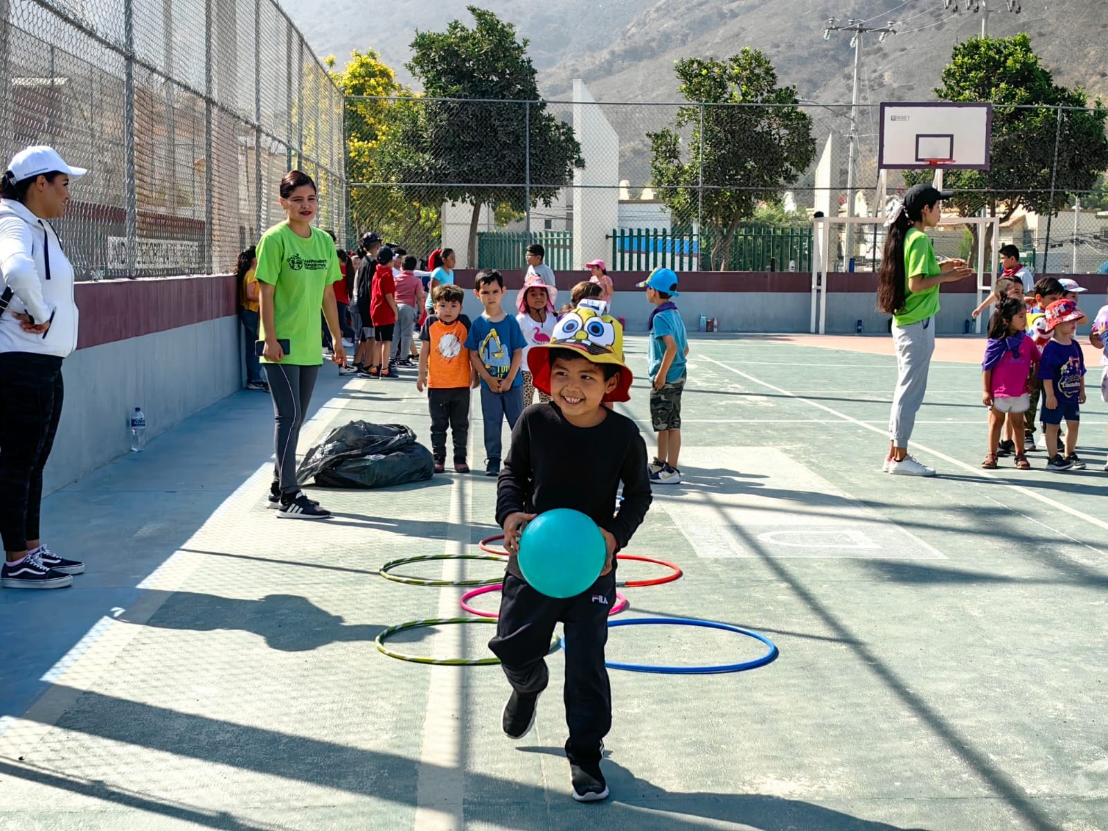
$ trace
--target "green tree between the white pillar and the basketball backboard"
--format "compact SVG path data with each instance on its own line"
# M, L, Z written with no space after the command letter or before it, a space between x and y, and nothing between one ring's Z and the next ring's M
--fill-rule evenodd
M726 61L685 58L675 69L685 100L706 104L704 132L701 107L680 107L673 129L647 134L650 173L675 223L690 224L700 216L701 235L710 240L708 267L722 269L742 220L753 216L759 203L780 202L814 160L812 121L797 107L797 89L778 86L777 70L757 49ZM687 153L679 135L685 127L691 127Z

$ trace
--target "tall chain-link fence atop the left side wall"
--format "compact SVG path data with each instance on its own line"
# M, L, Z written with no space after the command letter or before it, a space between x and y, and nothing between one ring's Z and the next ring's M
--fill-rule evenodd
M59 232L81 279L215 274L290 168L346 220L342 93L273 0L0 0L0 155L89 168Z

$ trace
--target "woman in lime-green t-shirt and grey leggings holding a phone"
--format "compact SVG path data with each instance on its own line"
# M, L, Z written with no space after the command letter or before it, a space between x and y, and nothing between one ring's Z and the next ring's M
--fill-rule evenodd
M319 310L322 309L334 341L332 360L346 363L339 330L335 283L342 279L335 242L311 226L318 211L316 183L300 171L280 181L280 206L286 220L258 242L256 276L264 341L261 366L274 399L277 463L269 489L269 506L288 520L322 520L330 512L309 500L296 482L296 445L308 411L316 376L322 365Z

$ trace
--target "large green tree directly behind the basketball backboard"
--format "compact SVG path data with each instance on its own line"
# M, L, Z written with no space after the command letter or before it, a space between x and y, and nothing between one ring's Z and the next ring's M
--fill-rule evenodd
M1080 86L1056 84L1026 34L958 43L935 93L942 101L993 104L989 170L948 171L943 181L962 216L976 216L983 206L1002 223L1019 208L1056 214L1074 204L1075 192L1092 189L1108 167L1108 110L1099 99L1089 107ZM905 175L907 184L930 178L930 171ZM979 226L968 228L976 255ZM985 244L992 244L991 227Z

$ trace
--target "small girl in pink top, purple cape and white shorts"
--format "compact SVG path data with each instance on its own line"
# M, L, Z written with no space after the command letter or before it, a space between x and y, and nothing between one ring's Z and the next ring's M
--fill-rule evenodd
M1030 407L1030 377L1039 362L1038 347L1027 337L1027 310L1022 298L1005 297L988 321L988 343L982 362L982 401L988 410L988 455L982 468L994 469L1004 423L1012 425L1014 435L1023 432L1024 413ZM1030 470L1023 448L1014 450L1016 468Z

